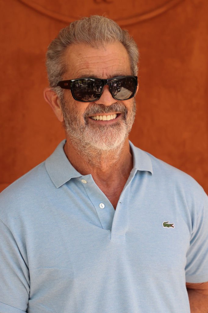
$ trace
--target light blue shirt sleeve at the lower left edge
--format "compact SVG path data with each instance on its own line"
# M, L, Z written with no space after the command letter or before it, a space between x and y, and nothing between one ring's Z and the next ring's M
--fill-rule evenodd
M0 313L26 312L29 270L9 228L0 220Z

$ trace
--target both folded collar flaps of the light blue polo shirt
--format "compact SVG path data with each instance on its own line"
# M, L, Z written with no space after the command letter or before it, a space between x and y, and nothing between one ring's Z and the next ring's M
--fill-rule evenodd
M68 182L71 178L83 176L77 172L67 159L63 150L65 143L66 139L61 141L56 150L45 161L47 173L57 188ZM133 154L133 167L139 171L149 171L153 174L150 156L145 151L135 147L131 141L129 141L129 144Z

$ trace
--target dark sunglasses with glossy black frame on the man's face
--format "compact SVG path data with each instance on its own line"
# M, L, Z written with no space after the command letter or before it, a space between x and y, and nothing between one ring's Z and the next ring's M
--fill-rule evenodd
M100 99L105 85L109 86L112 97L116 100L128 100L135 96L137 76L117 76L110 79L77 78L59 81L57 86L70 89L75 100L92 102Z

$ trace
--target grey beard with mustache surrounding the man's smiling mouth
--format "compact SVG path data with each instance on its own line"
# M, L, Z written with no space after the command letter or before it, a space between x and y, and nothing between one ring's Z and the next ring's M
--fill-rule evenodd
M76 106L67 105L61 100L65 122L65 131L71 143L81 156L91 165L99 167L108 162L117 162L124 141L128 137L136 115L136 101L132 99L132 108L127 111L121 102L106 106L92 104L84 114L80 114ZM92 125L88 118L92 115L121 112L122 117L110 125Z

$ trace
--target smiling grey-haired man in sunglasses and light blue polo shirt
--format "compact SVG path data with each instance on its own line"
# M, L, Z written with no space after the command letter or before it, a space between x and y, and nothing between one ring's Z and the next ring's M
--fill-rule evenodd
M2 192L0 312L208 312L207 196L128 141L137 61L100 16L48 47L66 140Z

